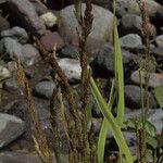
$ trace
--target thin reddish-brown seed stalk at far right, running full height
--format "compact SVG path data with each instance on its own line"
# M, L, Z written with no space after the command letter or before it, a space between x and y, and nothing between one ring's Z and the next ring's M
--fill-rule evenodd
M149 34L149 17L147 14L147 8L146 3L142 0L137 0L137 3L139 5L141 17L142 17L142 25L141 25L141 33L143 37L143 41L146 45L146 52L145 52L145 65L140 67L140 71L145 72L145 98L142 96L142 101L145 101L145 104L142 105L142 128L138 130L138 139L139 139L139 161L140 163L147 162L147 136L146 136L146 122L147 122L147 115L149 110L149 78L150 78L150 34ZM141 73L140 73L141 74ZM141 76L140 76L141 77ZM142 90L141 90L142 91ZM142 93L143 95L143 93Z

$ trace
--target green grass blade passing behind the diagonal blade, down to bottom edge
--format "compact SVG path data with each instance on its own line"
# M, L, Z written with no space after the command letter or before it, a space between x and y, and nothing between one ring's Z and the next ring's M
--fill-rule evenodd
M114 102L114 95L113 95L113 89L114 89L114 80L112 82L112 87L111 87L111 93L110 93L110 100L108 103L108 110L111 112L113 102ZM106 134L110 129L110 124L108 123L108 120L104 117L102 121L100 134L99 134L99 139L98 139L98 149L97 149L97 155L98 155L98 162L103 163L103 158L104 158L104 146L105 146L105 139L106 139Z

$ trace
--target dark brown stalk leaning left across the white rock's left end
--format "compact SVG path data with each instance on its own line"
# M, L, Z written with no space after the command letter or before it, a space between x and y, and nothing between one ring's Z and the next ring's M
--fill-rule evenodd
M70 106L70 121L66 120L67 123L67 134L70 137L70 160L72 163L79 162L82 160L80 147L83 145L82 139L82 118L79 116L79 112L75 105L75 98L73 96L73 91L68 84L68 79L65 76L62 68L59 66L57 58L55 58L55 49L53 53L49 53L45 50L43 46L40 41L35 38L36 43L40 50L42 58L51 65L51 67L57 72L57 80L61 85L62 92L65 95L66 100ZM65 123L63 123L65 124Z

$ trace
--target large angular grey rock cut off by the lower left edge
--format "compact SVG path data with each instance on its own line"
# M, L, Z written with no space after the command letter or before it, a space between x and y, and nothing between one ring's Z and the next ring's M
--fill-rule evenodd
M5 147L25 131L25 124L16 116L0 113L0 148Z

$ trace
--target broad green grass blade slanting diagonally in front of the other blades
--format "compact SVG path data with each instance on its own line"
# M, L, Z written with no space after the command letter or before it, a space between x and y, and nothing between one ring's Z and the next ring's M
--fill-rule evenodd
M124 158L125 158L126 163L134 163L129 148L127 147L125 138L121 131L121 127L116 123L112 113L108 110L108 105L106 105L104 99L102 98L92 77L90 78L90 88L91 88L92 95L93 95L103 116L108 120L108 123L110 124L111 130L113 133L113 136L116 140L118 148L123 151L123 153L125 155Z

